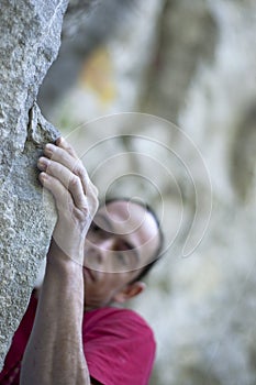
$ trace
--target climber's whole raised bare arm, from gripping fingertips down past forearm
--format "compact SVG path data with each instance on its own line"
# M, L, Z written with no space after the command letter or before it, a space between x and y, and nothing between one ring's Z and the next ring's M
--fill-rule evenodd
M51 151L49 151L51 150ZM21 385L89 385L82 349L84 243L97 190L65 141L45 150L41 180L54 196L58 221L47 255L36 318L23 358ZM44 161L45 162L45 161Z

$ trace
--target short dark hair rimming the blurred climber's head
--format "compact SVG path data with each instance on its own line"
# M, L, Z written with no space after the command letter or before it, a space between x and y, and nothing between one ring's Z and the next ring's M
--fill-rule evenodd
M148 262L142 268L138 268L140 273L137 274L137 276L135 278L133 278L130 282L130 284L133 284L135 282L141 280L145 276L147 276L147 274L151 272L152 267L156 264L157 261L159 261L159 257L162 255L162 251L163 251L163 248L164 248L164 240L165 240L164 239L164 232L163 232L163 229L160 227L159 219L158 219L155 210L152 208L152 206L149 206L148 204L142 202L141 200L138 200L136 198L110 197L110 198L105 198L105 200L100 204L100 207L108 206L108 205L113 204L115 201L126 201L126 202L132 202L132 204L135 204L135 205L138 205L138 206L143 207L147 212L149 212L152 215L152 217L154 218L154 220L156 222L157 229L158 229L158 235L159 235L158 248L155 251L155 253L153 254L152 261Z

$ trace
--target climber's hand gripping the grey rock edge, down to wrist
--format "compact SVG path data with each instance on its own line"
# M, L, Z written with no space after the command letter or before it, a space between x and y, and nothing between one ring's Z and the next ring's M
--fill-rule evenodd
M46 144L38 160L40 180L54 196L58 220L53 233L56 245L71 260L84 263L87 231L98 209L98 191L74 148L59 138Z

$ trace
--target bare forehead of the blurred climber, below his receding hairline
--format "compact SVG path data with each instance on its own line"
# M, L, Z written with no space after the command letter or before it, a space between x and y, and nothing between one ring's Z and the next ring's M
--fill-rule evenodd
M159 244L159 231L153 215L133 201L116 200L100 207L96 216L100 226L133 241L134 248L153 255Z

